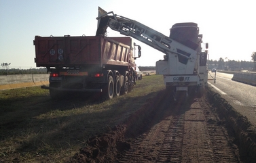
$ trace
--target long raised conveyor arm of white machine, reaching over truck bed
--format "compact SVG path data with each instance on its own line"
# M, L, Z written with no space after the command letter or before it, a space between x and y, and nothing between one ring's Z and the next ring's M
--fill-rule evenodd
M170 39L170 37L166 37L164 34L145 26L144 24L136 22L135 20L130 20L124 16L113 14L113 11L107 13L100 7L98 10L99 16L96 18L98 20L98 28L100 21L103 21L105 22L105 28L108 26L112 30L120 32L120 34L133 37L134 39L158 49L158 51L162 51L166 55L169 53L176 53L177 55L189 59L197 53L194 49ZM112 16L109 16L109 14L112 14Z

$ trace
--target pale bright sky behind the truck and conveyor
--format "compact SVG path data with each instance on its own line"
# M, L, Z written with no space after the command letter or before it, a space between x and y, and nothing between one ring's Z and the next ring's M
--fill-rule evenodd
M196 22L209 43L209 59L251 60L256 51L253 0L0 0L0 63L10 68L35 68L35 35L94 36L98 6L105 11L141 22L169 36L178 22ZM109 37L120 36L107 29ZM155 66L163 53L139 41L138 66Z

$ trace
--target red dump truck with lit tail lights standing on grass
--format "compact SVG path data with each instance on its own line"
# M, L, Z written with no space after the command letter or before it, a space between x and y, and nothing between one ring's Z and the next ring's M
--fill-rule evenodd
M101 97L126 94L135 84L134 60L141 47L130 37L35 36L35 63L50 72L52 98L66 92L98 92Z

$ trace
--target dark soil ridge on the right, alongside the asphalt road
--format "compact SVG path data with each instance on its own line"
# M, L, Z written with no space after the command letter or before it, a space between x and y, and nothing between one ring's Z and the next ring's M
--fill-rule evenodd
M249 120L236 112L218 93L208 89L207 98L213 110L225 123L229 135L233 135L234 143L239 147L240 158L243 162L256 160L256 131Z

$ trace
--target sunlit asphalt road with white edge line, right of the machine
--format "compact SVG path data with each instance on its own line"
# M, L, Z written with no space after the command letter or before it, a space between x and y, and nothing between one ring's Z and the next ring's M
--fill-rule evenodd
M215 73L209 72L208 79L214 76ZM256 87L233 81L232 77L233 74L217 72L215 83L208 80L208 85L256 126Z

